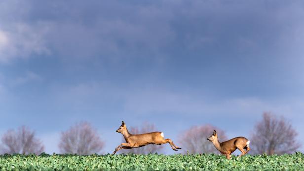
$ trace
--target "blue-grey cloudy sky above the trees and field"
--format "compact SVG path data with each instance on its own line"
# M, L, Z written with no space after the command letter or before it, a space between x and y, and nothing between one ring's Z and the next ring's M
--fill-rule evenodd
M271 111L304 142L303 18L301 0L0 1L0 134L59 152L85 120L111 153L121 120L178 144L202 124L249 137Z

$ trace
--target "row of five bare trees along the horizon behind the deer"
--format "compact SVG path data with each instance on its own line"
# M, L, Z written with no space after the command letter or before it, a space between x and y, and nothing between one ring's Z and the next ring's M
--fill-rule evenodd
M178 136L183 152L188 154L218 153L212 143L206 140L213 130L217 130L220 141L228 140L224 130L212 125L193 126ZM130 127L131 134L143 134L157 131L150 123L143 123L141 127ZM298 133L284 117L265 112L262 120L256 123L249 137L251 154L290 154L301 147L297 140ZM231 137L230 137L231 138ZM124 139L122 138L122 142ZM58 147L62 154L89 155L99 153L105 143L96 129L88 122L80 122L69 130L62 132ZM121 150L120 153L148 154L161 153L163 146L146 145L140 148ZM44 145L35 135L35 131L22 126L15 130L8 130L1 137L0 153L4 154L40 154Z

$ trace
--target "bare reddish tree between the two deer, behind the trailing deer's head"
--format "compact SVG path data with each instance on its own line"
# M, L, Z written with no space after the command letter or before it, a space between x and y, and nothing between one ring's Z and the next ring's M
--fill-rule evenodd
M220 141L227 140L225 132L212 125L194 126L180 134L179 141L184 152L190 154L219 153L214 145L207 140L214 130L218 132Z

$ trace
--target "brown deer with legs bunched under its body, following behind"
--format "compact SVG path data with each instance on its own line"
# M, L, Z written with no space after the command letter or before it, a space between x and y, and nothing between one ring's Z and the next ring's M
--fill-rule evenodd
M218 135L216 134L216 131L213 131L213 135L211 135L209 138L207 138L209 141L213 143L215 148L219 150L222 154L224 154L227 159L230 159L230 154L237 149L239 149L242 154L239 156L241 157L242 155L245 155L246 153L249 152L249 143L250 140L248 140L245 137L235 137L232 138L228 141L225 142L220 142L218 139ZM246 151L244 150L246 149Z

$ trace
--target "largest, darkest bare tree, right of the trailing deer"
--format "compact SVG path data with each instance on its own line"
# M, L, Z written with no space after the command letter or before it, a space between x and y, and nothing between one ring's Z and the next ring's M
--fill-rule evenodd
M285 154L293 153L301 146L296 138L298 133L284 117L278 118L270 112L263 114L250 138L252 153Z

